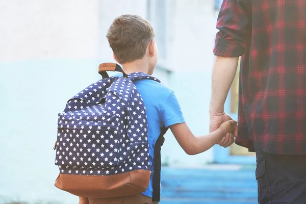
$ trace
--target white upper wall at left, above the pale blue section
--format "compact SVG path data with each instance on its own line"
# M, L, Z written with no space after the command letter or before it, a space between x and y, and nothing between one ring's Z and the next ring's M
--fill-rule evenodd
M0 61L95 58L99 1L0 1Z

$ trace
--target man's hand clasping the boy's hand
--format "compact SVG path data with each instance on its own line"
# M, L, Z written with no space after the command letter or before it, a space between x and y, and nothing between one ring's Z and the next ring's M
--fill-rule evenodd
M209 132L211 133L217 130L220 124L227 120L233 120L233 118L225 112L210 114ZM226 135L224 135L223 139L218 144L224 148L231 146L235 141L234 137L237 137L237 135L238 126L235 129L234 134L227 133Z

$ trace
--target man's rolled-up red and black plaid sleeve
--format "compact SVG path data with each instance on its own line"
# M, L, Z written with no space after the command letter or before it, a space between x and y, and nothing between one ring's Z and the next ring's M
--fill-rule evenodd
M217 20L214 55L239 57L249 46L251 36L251 1L224 0Z

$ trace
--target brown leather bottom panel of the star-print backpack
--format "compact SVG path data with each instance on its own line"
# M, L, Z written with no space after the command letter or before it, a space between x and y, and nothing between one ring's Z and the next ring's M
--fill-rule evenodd
M144 192L150 182L150 171L135 170L116 175L59 174L55 186L81 197L108 198Z

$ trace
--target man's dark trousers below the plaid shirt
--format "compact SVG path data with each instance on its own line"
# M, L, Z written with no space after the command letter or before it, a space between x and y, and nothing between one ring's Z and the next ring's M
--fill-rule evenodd
M306 203L306 155L256 151L259 204Z

